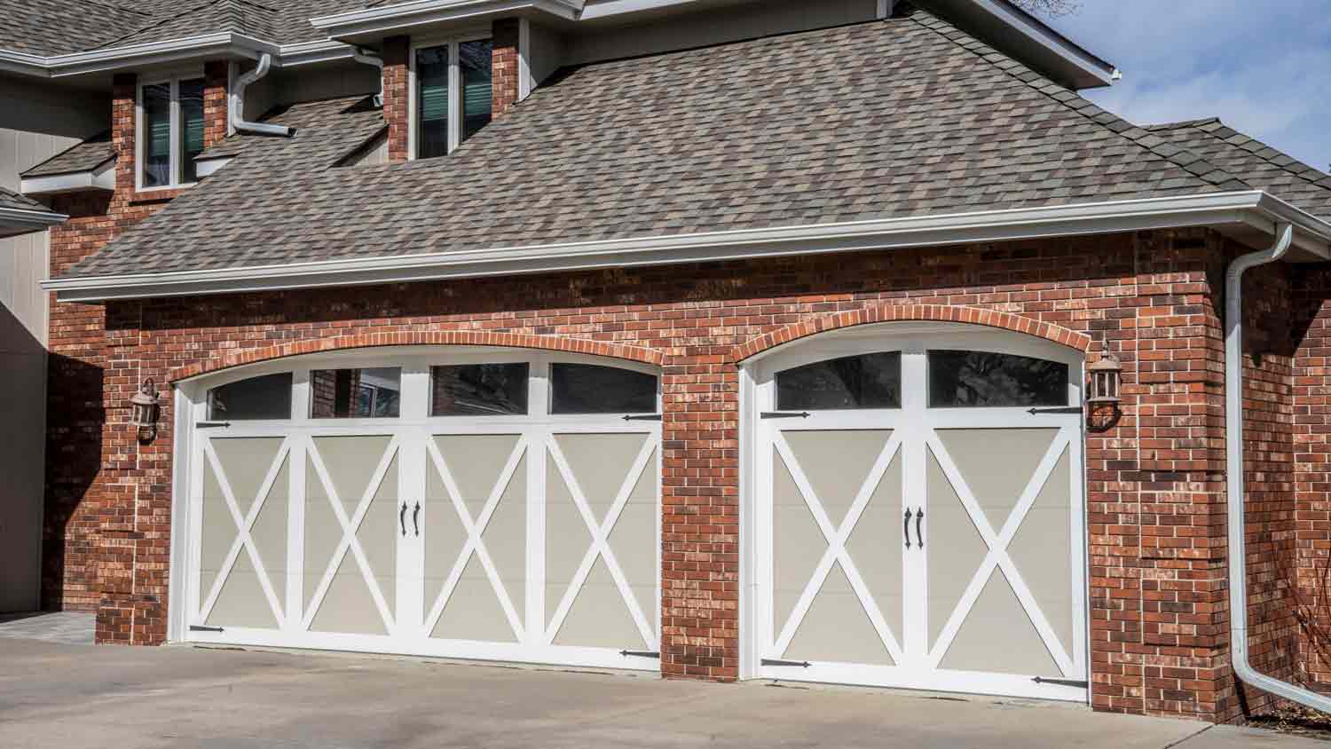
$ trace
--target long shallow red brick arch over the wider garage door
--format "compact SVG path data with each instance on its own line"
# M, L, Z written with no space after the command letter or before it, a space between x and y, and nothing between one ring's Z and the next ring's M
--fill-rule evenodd
M552 335L522 335L515 333L490 333L476 330L441 330L423 333L373 333L338 335L310 341L293 341L244 351L228 351L204 362L197 362L172 370L170 382L212 374L241 365L253 365L302 354L325 354L350 349L375 349L389 346L495 346L511 349L539 349L564 351L568 354L588 354L614 359L628 359L647 365L666 363L666 354L642 346L626 346L606 341L586 341L580 338L556 338Z

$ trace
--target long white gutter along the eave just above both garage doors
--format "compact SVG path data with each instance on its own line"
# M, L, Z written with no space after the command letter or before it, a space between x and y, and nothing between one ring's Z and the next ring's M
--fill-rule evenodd
M56 291L63 302L96 302L890 250L1189 226L1270 234L1278 222L1296 227L1295 243L1304 253L1331 258L1331 224L1262 190L1243 190L455 253L72 277L45 281L43 287Z

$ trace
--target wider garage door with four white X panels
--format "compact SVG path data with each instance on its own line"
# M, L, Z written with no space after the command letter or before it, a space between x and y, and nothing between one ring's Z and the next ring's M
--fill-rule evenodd
M658 668L650 367L403 350L182 398L182 639Z

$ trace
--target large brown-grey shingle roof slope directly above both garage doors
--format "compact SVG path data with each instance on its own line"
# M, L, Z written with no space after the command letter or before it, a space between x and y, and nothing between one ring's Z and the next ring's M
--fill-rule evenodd
M319 168L299 140L67 275L1250 189L922 11L564 71L445 158Z

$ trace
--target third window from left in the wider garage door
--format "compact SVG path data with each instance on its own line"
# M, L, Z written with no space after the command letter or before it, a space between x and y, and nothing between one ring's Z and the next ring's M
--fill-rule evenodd
M527 362L430 367L430 415L523 415L530 371Z

